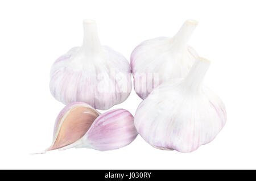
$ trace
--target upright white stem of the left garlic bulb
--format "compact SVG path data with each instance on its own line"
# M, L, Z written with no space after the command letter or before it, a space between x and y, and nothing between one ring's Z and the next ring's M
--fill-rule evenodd
M84 42L82 51L86 56L94 56L102 52L100 39L98 38L95 20L85 19L84 22Z

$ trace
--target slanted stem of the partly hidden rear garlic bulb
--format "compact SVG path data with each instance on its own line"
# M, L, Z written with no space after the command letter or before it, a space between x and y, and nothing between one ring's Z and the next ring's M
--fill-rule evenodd
M181 45L187 45L189 38L191 37L193 31L197 27L197 21L188 19L183 23L183 26L174 36L174 39Z

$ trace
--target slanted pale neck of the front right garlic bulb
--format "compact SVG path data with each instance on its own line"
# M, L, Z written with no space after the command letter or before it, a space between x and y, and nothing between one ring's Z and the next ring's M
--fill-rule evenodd
M203 79L209 69L210 61L205 58L197 58L187 77L181 85L189 92L197 92L201 89Z

